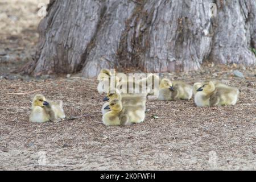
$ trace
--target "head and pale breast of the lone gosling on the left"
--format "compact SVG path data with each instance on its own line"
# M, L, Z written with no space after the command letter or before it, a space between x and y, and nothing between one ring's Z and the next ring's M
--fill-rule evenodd
M49 103L46 98L37 94L32 101L32 111L30 113L30 122L44 123L50 121L50 115L47 113L45 106Z

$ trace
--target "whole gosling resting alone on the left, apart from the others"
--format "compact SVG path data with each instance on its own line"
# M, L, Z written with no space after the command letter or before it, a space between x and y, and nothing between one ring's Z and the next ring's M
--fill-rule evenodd
M30 122L59 122L65 118L62 101L47 101L42 94L37 94L32 101Z

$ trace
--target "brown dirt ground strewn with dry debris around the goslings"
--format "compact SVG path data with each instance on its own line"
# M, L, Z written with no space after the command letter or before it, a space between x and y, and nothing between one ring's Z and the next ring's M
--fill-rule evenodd
M204 63L200 71L163 74L190 84L214 78L237 86L241 93L235 106L199 108L193 99L148 100L143 123L106 127L96 79L11 73L35 51L39 2L23 1L19 11L14 6L18 1L0 2L1 23L9 22L0 32L0 170L256 169L256 67ZM34 20L24 23L28 17ZM245 78L234 76L234 70ZM49 99L63 100L67 115L84 117L28 122L33 94L10 93L38 89Z

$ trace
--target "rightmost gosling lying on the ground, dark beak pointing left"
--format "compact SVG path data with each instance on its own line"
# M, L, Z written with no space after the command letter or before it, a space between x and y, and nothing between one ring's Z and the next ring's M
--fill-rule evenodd
M197 89L195 103L198 107L235 105L237 103L239 90L221 82L205 81Z

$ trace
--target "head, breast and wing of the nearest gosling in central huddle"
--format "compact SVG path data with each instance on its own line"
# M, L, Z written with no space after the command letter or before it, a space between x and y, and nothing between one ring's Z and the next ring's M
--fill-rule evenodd
M110 111L105 113L102 117L104 125L119 126L126 125L129 122L128 115L121 112L123 109L121 101L114 99L110 101L109 106L106 106L105 109Z

